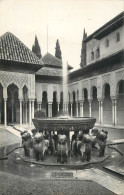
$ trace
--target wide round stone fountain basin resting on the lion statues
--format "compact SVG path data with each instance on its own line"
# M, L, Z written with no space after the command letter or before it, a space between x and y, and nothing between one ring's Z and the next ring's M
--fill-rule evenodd
M32 119L36 129L43 131L85 131L95 125L93 117L53 117Z

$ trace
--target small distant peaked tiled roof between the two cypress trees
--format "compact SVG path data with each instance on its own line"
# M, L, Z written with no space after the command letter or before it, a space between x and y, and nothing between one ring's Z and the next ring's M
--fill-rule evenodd
M54 66L62 66L62 61L59 60L58 58L54 57L50 53L46 53L41 60L44 62L46 65L54 65Z

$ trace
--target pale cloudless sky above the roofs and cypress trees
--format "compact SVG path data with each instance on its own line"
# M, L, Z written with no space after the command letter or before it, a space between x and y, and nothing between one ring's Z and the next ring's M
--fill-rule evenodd
M88 35L124 11L123 0L0 0L0 36L11 32L29 49L37 35L42 56L55 55L79 68L83 31Z

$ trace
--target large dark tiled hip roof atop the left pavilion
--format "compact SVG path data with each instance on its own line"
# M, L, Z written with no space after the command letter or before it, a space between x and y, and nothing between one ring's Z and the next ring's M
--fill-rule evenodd
M10 32L0 37L0 60L43 65L42 60Z

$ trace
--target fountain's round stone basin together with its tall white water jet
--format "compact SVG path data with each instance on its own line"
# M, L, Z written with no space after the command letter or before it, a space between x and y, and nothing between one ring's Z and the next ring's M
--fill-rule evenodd
M33 124L40 131L82 131L88 133L95 125L92 117L70 117L68 115L67 63L63 65L63 112L53 118L34 118Z

